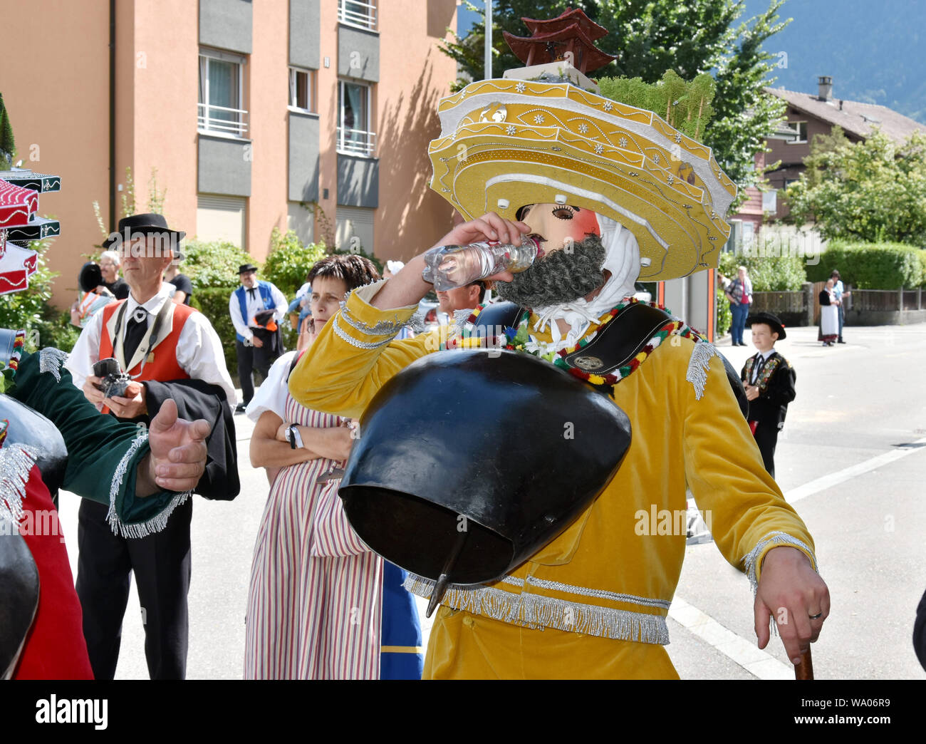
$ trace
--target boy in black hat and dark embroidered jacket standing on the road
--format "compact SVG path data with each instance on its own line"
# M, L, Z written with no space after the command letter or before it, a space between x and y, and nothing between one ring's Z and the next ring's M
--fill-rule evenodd
M794 368L775 351L775 342L786 337L784 325L770 312L757 312L746 318L752 329L755 357L746 359L740 379L749 399L749 428L756 437L762 463L775 477L775 445L784 426L788 403L795 399Z

